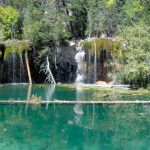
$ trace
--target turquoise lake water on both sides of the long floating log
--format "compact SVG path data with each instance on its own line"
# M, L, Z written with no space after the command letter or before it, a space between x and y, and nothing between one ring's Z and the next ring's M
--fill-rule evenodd
M107 90L8 85L0 87L0 100L26 100L28 93L42 100L97 100L93 95L99 92ZM149 94L117 94L111 91L106 100L150 99ZM149 149L150 105L0 105L0 150Z

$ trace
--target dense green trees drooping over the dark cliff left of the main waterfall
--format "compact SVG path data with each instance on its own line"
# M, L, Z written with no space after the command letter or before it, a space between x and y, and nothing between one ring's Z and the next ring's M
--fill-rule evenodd
M32 42L38 53L43 53L47 47L53 48L56 43L66 43L71 36L66 22L66 15L60 12L57 1L28 1L23 37Z

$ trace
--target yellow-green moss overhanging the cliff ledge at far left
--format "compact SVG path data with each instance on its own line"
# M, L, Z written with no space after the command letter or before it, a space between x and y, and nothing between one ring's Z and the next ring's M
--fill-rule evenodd
M18 55L22 55L24 50L29 50L28 41L8 40L4 45L4 60L6 60L8 54L17 53Z

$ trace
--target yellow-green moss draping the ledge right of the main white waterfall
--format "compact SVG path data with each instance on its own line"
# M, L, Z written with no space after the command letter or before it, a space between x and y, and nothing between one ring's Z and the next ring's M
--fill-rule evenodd
M112 53L114 57L120 55L121 42L114 40L112 38L107 39L94 39L90 42L83 41L81 42L82 49L87 47L90 49L91 56L94 55L94 50L96 48L96 55L100 56L102 50Z

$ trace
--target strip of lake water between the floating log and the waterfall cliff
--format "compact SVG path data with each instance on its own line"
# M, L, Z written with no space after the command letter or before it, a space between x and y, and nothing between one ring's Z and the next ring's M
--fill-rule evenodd
M88 86L52 86L52 85L4 85L0 86L0 100L27 100L37 94L42 100L150 100L149 93L134 93L129 90ZM106 96L107 95L107 96Z

